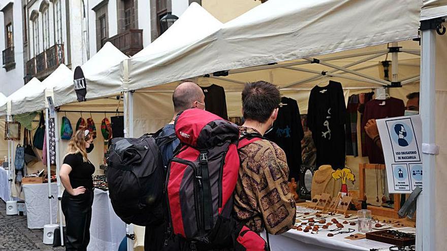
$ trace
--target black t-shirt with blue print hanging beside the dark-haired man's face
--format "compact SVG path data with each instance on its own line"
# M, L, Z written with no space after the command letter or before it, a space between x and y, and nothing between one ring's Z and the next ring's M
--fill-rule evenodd
M273 124L273 130L264 135L275 142L285 152L289 166L289 181L299 181L301 166L301 139L304 137L303 125L298 103L295 99L282 97L282 107Z

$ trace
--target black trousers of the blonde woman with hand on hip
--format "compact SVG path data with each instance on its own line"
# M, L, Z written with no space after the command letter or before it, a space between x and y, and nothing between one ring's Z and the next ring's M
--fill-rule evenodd
M85 251L90 242L91 205L93 191L72 196L67 191L62 194L62 212L65 216L67 234L65 246L67 251Z

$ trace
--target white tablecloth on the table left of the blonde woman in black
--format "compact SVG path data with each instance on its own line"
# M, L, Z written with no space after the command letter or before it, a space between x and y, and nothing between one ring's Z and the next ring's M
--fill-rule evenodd
M28 228L39 229L50 224L48 199L48 184L26 184L23 185L23 193L25 194L26 221ZM57 220L57 185L51 183L51 193L54 199L51 199L53 224Z

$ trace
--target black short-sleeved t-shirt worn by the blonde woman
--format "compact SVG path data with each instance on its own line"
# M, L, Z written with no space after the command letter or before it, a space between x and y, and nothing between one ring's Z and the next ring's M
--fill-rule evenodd
M85 187L93 188L94 166L90 161L84 162L81 153L69 154L63 159L63 164L70 165L72 171L69 174L72 188Z

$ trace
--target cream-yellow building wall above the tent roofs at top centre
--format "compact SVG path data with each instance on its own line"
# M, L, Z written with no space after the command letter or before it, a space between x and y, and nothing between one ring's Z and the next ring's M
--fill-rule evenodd
M222 23L233 20L260 4L261 1L254 0L202 0L202 7Z

